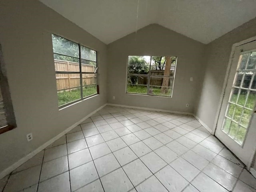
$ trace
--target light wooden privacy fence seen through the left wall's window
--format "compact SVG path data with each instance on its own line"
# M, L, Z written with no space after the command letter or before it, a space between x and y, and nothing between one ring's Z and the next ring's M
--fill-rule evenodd
M79 72L79 63L68 62L63 60L54 60L55 71ZM82 64L82 72L94 72L96 66ZM82 82L84 85L96 84L97 74L82 74ZM80 87L80 74L56 74L57 90L71 91Z

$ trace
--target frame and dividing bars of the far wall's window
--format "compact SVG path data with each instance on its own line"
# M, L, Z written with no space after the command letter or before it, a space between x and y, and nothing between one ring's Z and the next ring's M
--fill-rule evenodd
M150 63L149 63L149 70L148 70L148 74L128 74L128 66L129 66L129 56L149 56L149 55L128 55L127 56L127 64L126 64L126 86L125 86L125 93L126 94L135 94L135 95L143 95L143 96L158 96L158 97L165 97L165 98L172 98L172 94L173 94L173 90L174 90L174 81L175 81L175 76L176 76L176 68L177 68L177 61L178 61L178 56L172 56L172 57L176 57L176 61L175 61L175 69L174 69L174 75L172 76L164 76L164 75L151 75L151 62L152 62L152 57L154 57L155 55L151 55L150 56ZM148 66L148 65L147 65ZM172 67L172 65L171 65ZM148 84L142 85L142 84L138 84L140 86L147 86L147 93L143 94L143 93L133 93L133 92L127 92L127 86L129 85L127 82L128 76L147 76L148 77ZM150 90L150 78L151 77L155 77L155 78L164 78L164 77L168 77L170 79L173 80L172 86L170 86L170 88L172 88L172 92L170 96L165 96L165 95L156 95L156 94L150 94L149 90ZM164 86L159 86L159 87L164 87Z

